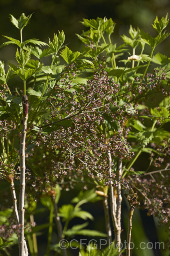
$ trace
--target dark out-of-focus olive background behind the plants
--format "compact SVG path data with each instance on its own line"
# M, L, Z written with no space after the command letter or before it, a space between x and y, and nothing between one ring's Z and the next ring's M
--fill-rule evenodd
M83 25L79 23L83 18L96 19L97 17L110 17L116 23L113 43L122 44L123 41L120 37L122 34L128 34L130 25L134 28L142 28L145 32L154 35L151 23L153 23L156 15L158 18L166 16L170 13L170 1L169 0L0 0L0 35L7 35L16 39L20 38L19 32L9 21L9 15L19 18L21 13L29 15L34 13L30 25L24 29L23 40L30 38L37 38L41 41L48 43L48 38L53 38L54 33L58 30L64 30L66 40L72 51L80 51L81 42L75 35L75 33L81 34L84 29ZM169 15L170 16L170 15ZM170 31L170 25L168 27ZM5 42L6 39L0 37L0 44ZM170 38L165 40L157 47L157 51L169 56ZM0 59L7 63L7 60L14 59L14 48L4 47L0 51ZM2 188L2 187L1 187ZM79 190L79 189L78 189ZM69 201L76 196L78 192L68 193L64 191L62 197L62 203L69 203ZM74 195L75 193L75 195ZM67 194L67 195L66 195ZM67 200L66 200L67 198ZM3 198L4 199L4 198ZM8 199L6 198L8 201ZM61 203L61 202L60 202ZM123 205L124 208L124 205ZM89 211L95 216L95 222L90 223L90 227L100 231L104 231L104 224L101 223L101 217L103 216L102 206L99 203L95 205L95 209L91 205L87 205L84 210ZM98 212L96 216L96 211ZM124 216L127 219L127 216ZM142 213L143 227L145 233L150 241L158 241L158 237L162 240L161 230L157 225L155 227L153 217L148 217L147 212ZM35 221L39 224L39 221L44 221L38 218ZM147 225L144 225L147 223ZM123 227L125 228L125 227ZM158 236L156 234L156 228ZM161 231L161 232L160 232ZM135 230L134 237L136 237ZM165 235L164 235L165 236ZM41 240L41 245L45 242L46 237L40 236L38 240ZM140 236L138 237L139 240ZM159 240L159 241L160 241ZM150 255L168 255L165 252L160 254L160 251L150 251ZM151 252L152 251L152 252ZM40 252L41 253L41 252ZM43 253L43 246L42 246ZM140 252L142 253L142 252ZM143 252L144 253L144 252ZM139 252L134 252L134 255L139 255ZM142 255L142 254L140 254ZM149 255L149 254L145 254Z

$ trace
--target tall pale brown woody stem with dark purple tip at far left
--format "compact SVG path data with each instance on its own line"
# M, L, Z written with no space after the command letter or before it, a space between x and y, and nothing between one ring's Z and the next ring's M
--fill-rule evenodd
M22 97L23 106L23 117L22 117L22 132L20 140L20 193L19 193L19 224L21 226L19 236L19 256L24 256L24 195L25 195L25 144L26 144L26 133L27 133L27 119L28 119L28 97L24 95Z

